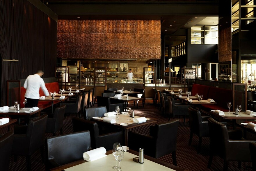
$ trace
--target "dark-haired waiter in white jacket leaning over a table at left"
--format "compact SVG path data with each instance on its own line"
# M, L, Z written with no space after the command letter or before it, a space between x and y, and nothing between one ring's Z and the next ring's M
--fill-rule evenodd
M45 96L51 99L51 95L45 87L45 82L41 78L43 74L44 72L42 70L38 70L36 74L29 75L26 78L24 83L24 88L26 89L25 99L27 99L26 107L33 108L38 105L40 87L42 87Z

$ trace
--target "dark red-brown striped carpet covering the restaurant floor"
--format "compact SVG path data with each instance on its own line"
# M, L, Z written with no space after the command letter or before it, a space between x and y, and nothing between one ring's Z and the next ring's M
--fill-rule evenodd
M133 107L133 104L129 104L130 107ZM97 104L95 104L95 107ZM158 122L167 121L167 118L164 118L163 115L159 110L157 110L157 107L152 104L152 101L147 101L145 104L145 107L142 107L142 104L139 102L139 108L135 108L135 114L138 116L144 116L144 117L152 117L159 119ZM72 117L74 117L75 114L70 115L66 117L64 121L64 127L63 127L63 134L68 134L73 132L72 128ZM154 125L154 124L150 124ZM143 134L149 134L149 126L150 125L143 125L140 127L132 128L132 131L143 133ZM231 127L229 128L231 129ZM1 130L0 133L4 133L7 130ZM11 131L13 131L13 126L11 127ZM211 165L211 169L207 168L207 163L209 159L209 138L203 138L202 139L202 148L201 153L197 154L197 144L198 144L198 137L194 136L192 144L189 146L189 123L188 118L186 118L186 122L183 122L183 118L180 119L179 122L179 129L178 129L178 135L177 135L177 165L181 168L188 169L190 171L221 171L223 170L223 160L220 157L214 157L213 163ZM59 132L57 133L59 135ZM46 133L45 137L51 137L52 134ZM166 135L166 138L168 138L168 135ZM247 139L253 139L256 140L256 136L253 134L250 134L247 132ZM248 154L250 155L250 154ZM167 163L172 164L172 155L168 154L166 156L160 157L159 160L165 161ZM38 150L35 154L31 156L31 165L32 170L34 171L41 171L45 170L45 165L42 163L41 156L40 156L40 150ZM242 162L242 167L239 169L237 162L229 162L229 171L250 171L251 169L247 169L246 166L252 166L250 162ZM1 170L1 168L0 168ZM14 157L11 156L10 159L10 171L25 171L26 170L26 157L24 156L18 156L17 162L14 162ZM123 171L125 171L125 168L123 168Z

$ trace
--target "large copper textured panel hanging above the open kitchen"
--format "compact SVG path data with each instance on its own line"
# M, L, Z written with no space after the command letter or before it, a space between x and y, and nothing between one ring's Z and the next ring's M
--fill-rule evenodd
M58 20L61 58L160 59L159 20Z

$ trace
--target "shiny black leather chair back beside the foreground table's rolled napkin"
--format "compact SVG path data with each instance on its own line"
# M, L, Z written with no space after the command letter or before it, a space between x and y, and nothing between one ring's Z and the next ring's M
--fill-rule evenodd
M45 139L46 170L83 159L91 150L90 132L75 132Z

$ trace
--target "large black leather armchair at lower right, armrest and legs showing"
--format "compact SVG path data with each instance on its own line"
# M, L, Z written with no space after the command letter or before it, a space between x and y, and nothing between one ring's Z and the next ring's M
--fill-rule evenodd
M228 169L228 161L252 161L250 156L249 143L255 142L242 138L241 130L227 130L226 125L208 118L210 136L210 157L208 168L211 167L214 154L224 160L223 170Z

